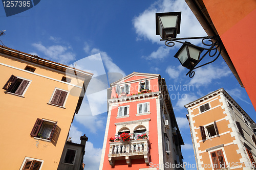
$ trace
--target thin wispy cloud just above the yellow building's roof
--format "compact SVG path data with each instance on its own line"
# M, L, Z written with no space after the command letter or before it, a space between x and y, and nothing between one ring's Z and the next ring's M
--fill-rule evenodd
M46 59L53 60L61 64L69 64L75 60L75 54L70 52L70 46L52 45L44 46L41 43L32 44L38 51L42 52Z

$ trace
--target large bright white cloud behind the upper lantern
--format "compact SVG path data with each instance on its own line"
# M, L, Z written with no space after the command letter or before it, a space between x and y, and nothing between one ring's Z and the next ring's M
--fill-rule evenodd
M160 36L156 36L156 12L177 12L181 11L181 30L177 37L196 37L205 36L206 33L202 26L191 12L184 0L163 0L157 1L150 8L133 18L133 25L138 35L137 39L148 39L153 43L160 42ZM192 41L193 42L193 41ZM194 41L200 42L199 40Z

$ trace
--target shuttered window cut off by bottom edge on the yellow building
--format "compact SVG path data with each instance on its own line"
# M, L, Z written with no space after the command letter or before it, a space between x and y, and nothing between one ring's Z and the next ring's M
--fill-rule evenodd
M39 170L42 166L42 162L43 161L38 159L26 157L23 161L22 167L20 167L20 170Z

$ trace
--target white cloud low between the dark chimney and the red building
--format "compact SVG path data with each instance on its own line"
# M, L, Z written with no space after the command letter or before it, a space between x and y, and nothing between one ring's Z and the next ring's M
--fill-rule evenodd
M101 158L101 148L94 148L93 143L86 143L86 154L84 154L83 162L86 164L84 169L99 169Z

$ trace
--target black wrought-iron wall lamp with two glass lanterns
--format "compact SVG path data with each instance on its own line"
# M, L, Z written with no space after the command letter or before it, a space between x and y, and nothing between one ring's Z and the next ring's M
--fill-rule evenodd
M162 39L160 40L165 41L166 46L174 46L175 42L183 44L174 57L179 59L182 66L189 69L186 76L189 75L190 78L193 78L195 75L194 69L218 59L221 54L221 40L217 36L176 38L177 34L180 33L180 21L181 12L156 13L156 35L161 36ZM202 39L202 44L205 46L201 47L187 41L180 41L189 39ZM201 56L203 51L205 53ZM210 62L197 66L207 54L209 57L215 58Z

